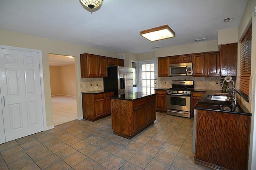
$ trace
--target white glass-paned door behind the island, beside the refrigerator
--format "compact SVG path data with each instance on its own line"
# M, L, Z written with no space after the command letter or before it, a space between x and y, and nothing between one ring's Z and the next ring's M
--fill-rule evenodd
M140 91L144 95L154 93L157 77L157 60L140 61Z

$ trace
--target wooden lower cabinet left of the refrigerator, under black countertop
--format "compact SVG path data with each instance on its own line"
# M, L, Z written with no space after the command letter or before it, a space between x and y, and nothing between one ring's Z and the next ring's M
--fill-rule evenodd
M96 121L111 115L111 99L114 92L89 94L82 93L83 118Z

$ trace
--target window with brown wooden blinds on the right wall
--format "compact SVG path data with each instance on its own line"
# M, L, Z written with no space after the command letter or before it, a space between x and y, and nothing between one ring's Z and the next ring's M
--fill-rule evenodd
M251 75L252 24L240 41L240 92L248 100Z

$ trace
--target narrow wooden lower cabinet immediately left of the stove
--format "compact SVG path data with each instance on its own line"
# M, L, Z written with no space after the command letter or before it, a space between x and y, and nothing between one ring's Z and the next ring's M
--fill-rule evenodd
M156 111L166 113L166 90L156 90Z

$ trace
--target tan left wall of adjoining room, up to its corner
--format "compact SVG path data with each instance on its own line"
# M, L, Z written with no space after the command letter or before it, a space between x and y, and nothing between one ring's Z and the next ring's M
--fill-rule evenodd
M60 92L60 67L50 66L51 94L59 95Z

